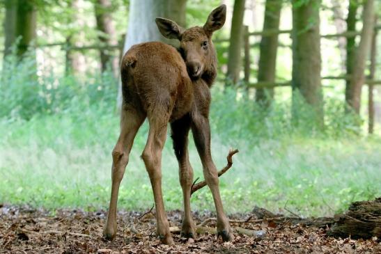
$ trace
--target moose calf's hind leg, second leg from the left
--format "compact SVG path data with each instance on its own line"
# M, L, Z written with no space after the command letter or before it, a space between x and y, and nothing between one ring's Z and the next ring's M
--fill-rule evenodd
M141 157L144 164L146 164L153 189L153 198L156 207L157 237L160 238L163 244L173 245L174 242L171 237L171 232L169 231L169 222L166 218L162 196L162 149L166 140L166 127L169 120L168 115L168 113L155 111L148 113L150 130L148 132L146 147Z

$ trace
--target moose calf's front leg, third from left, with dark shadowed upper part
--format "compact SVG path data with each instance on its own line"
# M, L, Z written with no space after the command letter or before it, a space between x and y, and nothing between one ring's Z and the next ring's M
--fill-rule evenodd
M194 238L194 221L190 209L191 187L193 182L193 169L189 163L188 156L188 134L190 129L189 115L171 123L171 137L173 139L173 150L178 159L179 178L184 200L184 214L182 217L181 236Z

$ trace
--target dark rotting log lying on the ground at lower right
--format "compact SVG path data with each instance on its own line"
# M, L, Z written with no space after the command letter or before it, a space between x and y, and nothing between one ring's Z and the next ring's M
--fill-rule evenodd
M381 198L358 201L350 205L345 214L336 214L327 235L368 239L381 237Z

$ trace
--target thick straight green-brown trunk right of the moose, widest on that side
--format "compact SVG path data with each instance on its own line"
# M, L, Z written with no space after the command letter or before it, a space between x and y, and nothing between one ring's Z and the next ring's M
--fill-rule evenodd
M300 92L310 104L316 120L323 122L320 56L320 0L311 0L300 5L293 0L293 109L295 95ZM293 111L294 115L297 109Z

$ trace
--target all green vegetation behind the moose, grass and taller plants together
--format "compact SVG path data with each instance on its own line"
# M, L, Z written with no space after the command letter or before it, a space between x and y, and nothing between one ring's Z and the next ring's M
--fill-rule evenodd
M119 132L114 113L116 86L110 73L76 77L36 77L33 58L8 58L0 77L0 203L56 209L106 208L111 187L111 150ZM303 216L332 215L354 200L381 196L380 132L366 138L361 122L344 111L340 95L325 96L325 128L311 109L296 100L297 121L290 116L289 95L277 92L266 113L236 90L212 90L212 155L226 164L238 148L233 168L220 178L225 209L249 212L254 205L273 212L288 209ZM336 99L335 99L336 97ZM285 99L286 98L286 99ZM298 98L298 97L297 97ZM379 130L379 127L378 127ZM120 209L153 204L140 154L145 123L134 142L120 186ZM166 209L181 209L178 163L167 139L162 159ZM195 177L202 177L193 142L189 145ZM193 209L212 209L208 188L192 196Z

